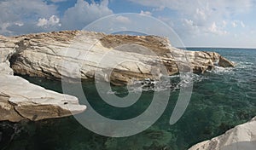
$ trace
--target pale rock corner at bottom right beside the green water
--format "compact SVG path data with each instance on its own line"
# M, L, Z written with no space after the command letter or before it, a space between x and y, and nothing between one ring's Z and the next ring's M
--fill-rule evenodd
M228 130L222 136L202 141L189 150L255 150L256 147L256 117L246 124L241 124Z

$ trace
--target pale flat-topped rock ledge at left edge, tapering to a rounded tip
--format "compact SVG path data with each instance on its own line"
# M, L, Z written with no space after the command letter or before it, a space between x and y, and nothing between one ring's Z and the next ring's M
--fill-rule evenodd
M0 37L0 121L18 122L60 118L82 113L85 106L71 95L62 95L14 76L9 60L19 48L19 38Z

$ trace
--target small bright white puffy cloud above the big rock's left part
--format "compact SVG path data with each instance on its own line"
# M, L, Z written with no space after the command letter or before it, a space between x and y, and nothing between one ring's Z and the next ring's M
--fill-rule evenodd
M49 17L49 20L45 18L39 18L37 26L42 27L55 27L55 26L61 26L60 19L56 17L55 15L52 15Z

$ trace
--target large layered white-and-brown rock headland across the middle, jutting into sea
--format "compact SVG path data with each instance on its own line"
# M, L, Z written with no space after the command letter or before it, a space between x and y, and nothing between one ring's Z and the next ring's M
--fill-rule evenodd
M166 75L189 69L205 72L220 58L214 52L175 49L168 39L156 36L65 31L16 39L15 55L10 60L16 73L45 78L96 78L116 85L144 78L158 80L160 74L165 74L160 65L166 67ZM227 63L219 65L229 66Z

